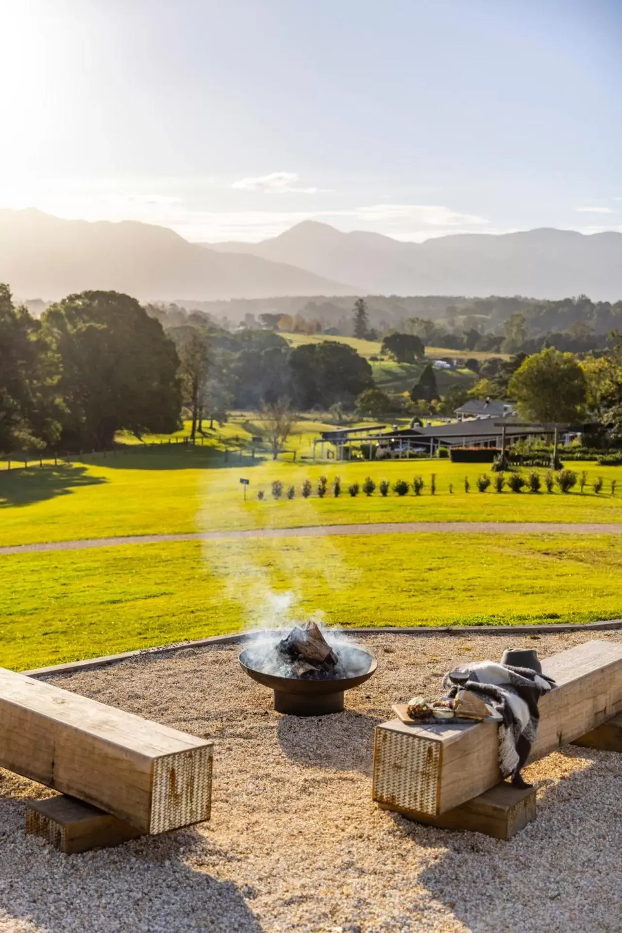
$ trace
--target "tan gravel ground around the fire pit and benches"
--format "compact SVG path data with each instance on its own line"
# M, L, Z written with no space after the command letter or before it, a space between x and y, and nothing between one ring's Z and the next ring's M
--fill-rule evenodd
M622 757L569 746L532 765L538 818L511 842L448 832L370 801L374 727L437 693L465 658L541 657L593 634L370 634L379 670L324 718L274 713L238 649L180 649L50 678L214 739L214 809L195 829L62 856L23 832L49 792L0 772L0 931L622 931ZM622 634L603 633L605 641Z

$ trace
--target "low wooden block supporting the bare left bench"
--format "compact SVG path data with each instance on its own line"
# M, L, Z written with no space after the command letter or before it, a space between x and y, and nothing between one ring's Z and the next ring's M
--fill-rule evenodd
M26 832L47 840L66 855L108 848L144 835L125 820L64 795L29 801Z

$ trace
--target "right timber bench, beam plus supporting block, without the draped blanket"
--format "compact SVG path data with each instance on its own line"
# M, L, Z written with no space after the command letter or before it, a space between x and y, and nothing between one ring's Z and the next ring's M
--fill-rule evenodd
M616 715L622 712L622 644L587 642L546 658L542 667L558 686L540 699L529 761L569 743L622 749L622 716ZM493 721L382 723L374 741L373 800L422 823L509 839L534 818L535 791L500 783L498 728Z

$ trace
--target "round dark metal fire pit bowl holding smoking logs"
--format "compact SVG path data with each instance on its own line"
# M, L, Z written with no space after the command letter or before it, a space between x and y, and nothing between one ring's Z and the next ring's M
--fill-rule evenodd
M347 650L347 673L340 669L336 675L322 679L306 677L279 676L263 670L268 666L274 642L260 642L252 648L245 648L240 655L240 663L249 677L274 690L274 709L277 713L289 713L292 716L325 716L327 713L343 711L344 690L359 687L376 671L378 661L362 648L352 648L348 643L334 648Z

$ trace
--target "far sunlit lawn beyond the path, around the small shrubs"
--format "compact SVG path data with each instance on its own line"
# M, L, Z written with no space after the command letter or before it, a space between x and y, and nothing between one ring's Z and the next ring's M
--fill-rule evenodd
M487 465L451 464L448 460L404 460L316 464L270 459L252 461L250 455L209 448L128 448L117 456L89 455L66 466L34 466L0 473L0 545L62 541L82 537L169 534L244 528L288 528L302 525L355 522L620 522L622 467L571 464L587 471L584 494L501 494L477 492L477 475ZM545 472L544 470L541 472ZM431 476L435 473L436 494ZM315 494L320 476L329 483L339 474L342 493L332 490L324 499ZM393 492L382 498L378 490L351 498L348 486L370 475L377 483L392 483L421 475L421 496L404 498ZM464 492L468 476L470 492ZM599 495L591 482L605 480ZM240 479L250 480L248 501L242 501ZM304 500L302 483L311 479L313 495ZM617 480L615 496L610 480ZM282 480L283 498L274 501L271 481ZM284 498L289 484L296 497ZM449 485L453 492L449 493ZM257 499L263 490L265 500Z

